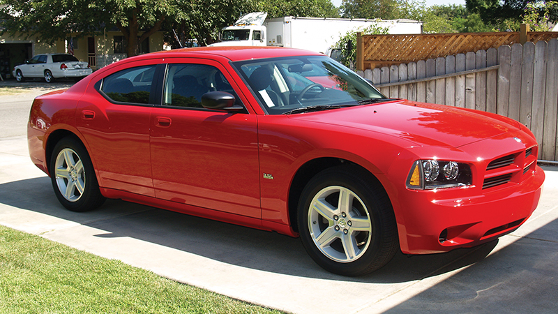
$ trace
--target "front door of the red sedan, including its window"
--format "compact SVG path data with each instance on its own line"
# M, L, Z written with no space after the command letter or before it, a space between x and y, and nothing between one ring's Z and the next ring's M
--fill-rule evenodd
M242 105L238 87L216 61L179 60L167 65L163 105L151 113L156 197L260 218L256 115L204 109L209 91Z

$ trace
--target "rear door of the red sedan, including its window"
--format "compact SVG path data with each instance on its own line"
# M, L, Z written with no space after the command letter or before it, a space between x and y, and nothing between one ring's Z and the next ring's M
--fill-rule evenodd
M76 124L100 186L153 197L149 121L156 103L157 61L138 61L98 80L80 99Z

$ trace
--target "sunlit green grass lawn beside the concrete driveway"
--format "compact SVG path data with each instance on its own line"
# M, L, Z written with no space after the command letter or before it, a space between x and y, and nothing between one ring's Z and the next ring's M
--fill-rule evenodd
M280 313L0 225L0 313Z

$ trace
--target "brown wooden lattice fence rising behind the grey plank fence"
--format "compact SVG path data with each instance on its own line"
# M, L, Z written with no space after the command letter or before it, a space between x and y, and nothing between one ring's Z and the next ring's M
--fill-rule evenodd
M530 41L558 38L558 32L522 31L492 33L434 33L410 35L357 34L356 68L364 70L391 64L436 59L448 55L476 52Z

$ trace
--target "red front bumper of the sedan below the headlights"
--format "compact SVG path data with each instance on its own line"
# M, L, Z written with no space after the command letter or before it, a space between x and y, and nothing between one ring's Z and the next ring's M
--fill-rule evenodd
M401 251L442 253L477 246L517 229L541 197L545 174L534 168L523 174L521 183L484 193L474 192L478 188L405 191L399 202Z

